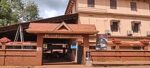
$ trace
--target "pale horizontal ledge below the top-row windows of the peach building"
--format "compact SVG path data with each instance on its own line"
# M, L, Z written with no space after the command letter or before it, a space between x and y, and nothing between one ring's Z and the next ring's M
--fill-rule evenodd
M149 14L143 14L143 13L132 13L131 11L128 12L121 12L120 10L114 11L109 10L106 8L89 8L89 7L78 7L78 12L84 12L84 13L98 13L98 14L109 14L109 15L124 15L124 16L141 16L141 17L150 17Z

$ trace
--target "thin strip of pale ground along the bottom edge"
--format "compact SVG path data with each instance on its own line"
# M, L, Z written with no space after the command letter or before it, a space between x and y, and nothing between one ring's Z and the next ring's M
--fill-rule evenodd
M108 66L90 67L85 65L44 65L44 66L0 66L0 68L150 68L149 66Z

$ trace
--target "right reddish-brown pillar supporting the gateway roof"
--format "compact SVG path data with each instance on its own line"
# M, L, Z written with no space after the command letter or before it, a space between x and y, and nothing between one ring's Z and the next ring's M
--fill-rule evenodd
M89 51L89 35L83 36L83 56L82 63L86 63L86 52Z

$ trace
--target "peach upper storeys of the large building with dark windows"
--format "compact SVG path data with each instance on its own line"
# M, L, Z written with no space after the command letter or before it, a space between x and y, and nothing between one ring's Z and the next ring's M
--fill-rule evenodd
M94 24L99 34L149 36L149 0L71 0L66 14L78 13L79 24Z

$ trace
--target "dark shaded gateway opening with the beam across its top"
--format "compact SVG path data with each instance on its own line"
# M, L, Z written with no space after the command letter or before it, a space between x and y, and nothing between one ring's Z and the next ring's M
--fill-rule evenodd
M88 45L88 35L84 38L82 35L38 34L37 37L37 41L39 40L42 43L42 64L81 64L84 62L82 61L83 58L81 58L83 56L82 54L84 54L84 44L79 44L79 42L83 42L84 40L87 42L85 44ZM41 44L40 42L37 44ZM73 46L74 42L77 43L78 49ZM49 53L47 54L44 45L46 45L46 49L48 49ZM65 47L63 47L63 45L65 45Z

